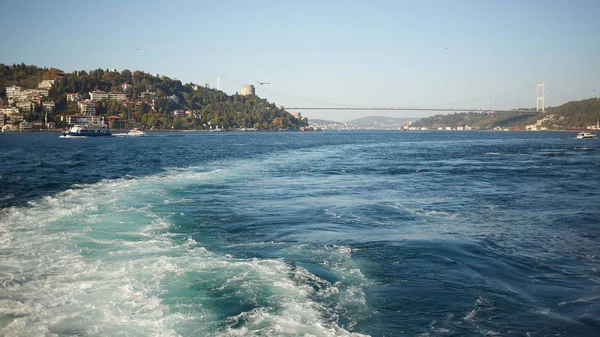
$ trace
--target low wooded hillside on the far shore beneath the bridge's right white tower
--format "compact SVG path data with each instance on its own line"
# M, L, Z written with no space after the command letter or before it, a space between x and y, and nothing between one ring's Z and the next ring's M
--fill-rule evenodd
M489 130L494 128L519 128L536 124L548 130L585 128L595 125L600 119L600 99L590 98L572 101L558 107L547 108L545 112L505 111L505 112L460 112L422 118L413 123L415 127L464 127Z

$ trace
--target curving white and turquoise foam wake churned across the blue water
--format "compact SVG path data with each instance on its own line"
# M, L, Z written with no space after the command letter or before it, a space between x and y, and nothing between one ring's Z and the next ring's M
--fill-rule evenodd
M360 335L318 300L340 284L169 231L160 209L182 201L169 190L210 179L191 169L103 181L4 210L0 335Z

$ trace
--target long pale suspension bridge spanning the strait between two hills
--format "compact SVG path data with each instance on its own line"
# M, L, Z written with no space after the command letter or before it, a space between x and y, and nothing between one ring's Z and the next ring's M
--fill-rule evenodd
M217 76L216 89L220 90L221 79L226 79L243 85L242 82L232 80L223 76ZM302 98L275 92L263 86L261 82L260 90L277 95L278 97L291 98L295 101L310 102L312 105L285 106L288 111L294 110L361 110L361 111L440 111L440 112L506 112L506 111L545 111L547 93L553 95L554 101L566 103L573 101L572 97L563 93L555 86L539 82L532 85L520 87L518 89L506 91L496 95L490 95L472 100L452 102L446 104L437 104L431 106L358 106L351 104L340 104L324 102L309 98Z

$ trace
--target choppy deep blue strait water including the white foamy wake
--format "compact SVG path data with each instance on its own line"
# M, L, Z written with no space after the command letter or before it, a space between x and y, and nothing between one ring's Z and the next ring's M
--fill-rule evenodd
M0 134L0 335L600 335L600 140Z

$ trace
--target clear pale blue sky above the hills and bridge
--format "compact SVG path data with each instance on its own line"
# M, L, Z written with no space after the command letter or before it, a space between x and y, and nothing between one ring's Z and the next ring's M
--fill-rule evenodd
M434 106L525 86L505 104L529 96L531 106L541 81L573 99L600 96L599 15L598 0L5 0L0 62L211 85L221 75L227 93L255 84L285 106Z

